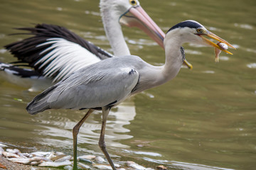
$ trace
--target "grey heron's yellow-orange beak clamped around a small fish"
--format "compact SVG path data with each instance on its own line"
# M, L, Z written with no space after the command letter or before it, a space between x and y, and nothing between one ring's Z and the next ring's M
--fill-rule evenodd
M199 35L199 34L198 34ZM235 49L235 47L233 45L230 45L230 43L228 43L227 41L223 40L222 38L218 37L217 35L215 35L214 33L211 33L210 31L206 30L204 31L202 34L200 34L199 36L206 42L208 43L208 45L211 45L215 48L218 48L219 50L222 50L223 52L227 52L230 55L233 55L231 52L229 52L228 50L223 49L222 47L220 47L219 45L215 44L214 42L208 40L207 38L203 37L203 35L208 36L209 38L213 38L214 40L217 40L218 42L222 42L225 45L228 45L228 47L232 47L233 49Z

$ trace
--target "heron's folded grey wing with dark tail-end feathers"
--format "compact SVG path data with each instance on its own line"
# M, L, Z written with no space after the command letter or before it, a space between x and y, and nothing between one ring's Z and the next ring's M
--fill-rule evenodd
M100 63L92 64L43 91L28 104L28 113L49 108L98 109L124 101L138 83L139 73L130 67L102 67Z

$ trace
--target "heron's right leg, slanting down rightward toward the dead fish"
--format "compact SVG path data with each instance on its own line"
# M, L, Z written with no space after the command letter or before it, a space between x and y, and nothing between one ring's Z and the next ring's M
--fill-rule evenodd
M114 167L114 164L112 162L112 159L110 158L110 155L107 153L106 145L105 145L105 128L107 123L107 115L110 113L110 108L102 108L102 130L100 132L100 140L99 140L99 146L100 149L102 149L102 152L105 154L105 157L107 158L107 161L110 163L113 170L116 170Z

